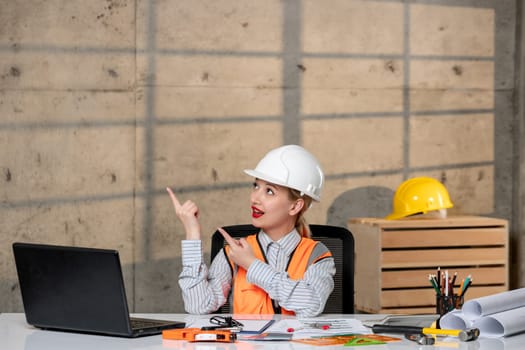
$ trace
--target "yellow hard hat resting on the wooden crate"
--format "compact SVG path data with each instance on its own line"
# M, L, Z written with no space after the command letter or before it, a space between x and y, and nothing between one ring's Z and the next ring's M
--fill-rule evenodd
M453 206L448 191L441 182L430 177L414 177L399 185L392 201L392 213L386 219L426 214Z

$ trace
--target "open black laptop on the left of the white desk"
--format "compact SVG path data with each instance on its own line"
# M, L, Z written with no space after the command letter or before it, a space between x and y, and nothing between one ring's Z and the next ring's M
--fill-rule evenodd
M185 327L130 317L116 250L16 242L13 253L30 325L129 338Z

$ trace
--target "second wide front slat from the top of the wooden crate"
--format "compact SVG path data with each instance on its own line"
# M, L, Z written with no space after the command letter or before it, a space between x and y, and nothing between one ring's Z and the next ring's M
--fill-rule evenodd
M381 253L383 268L504 265L507 261L505 247L392 250Z

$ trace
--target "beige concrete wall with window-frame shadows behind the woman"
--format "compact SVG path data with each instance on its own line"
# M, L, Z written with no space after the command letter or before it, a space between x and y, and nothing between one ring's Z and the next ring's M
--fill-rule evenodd
M249 222L242 169L284 143L327 175L310 222L383 216L428 175L450 214L508 219L522 240L515 1L0 8L0 311L22 310L14 241L118 249L132 310L183 311L166 186L200 205L208 251L217 226Z

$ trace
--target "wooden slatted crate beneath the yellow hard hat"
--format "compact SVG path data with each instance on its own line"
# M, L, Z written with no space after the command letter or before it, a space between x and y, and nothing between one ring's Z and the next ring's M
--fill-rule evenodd
M468 274L465 300L508 290L508 223L457 216L446 219L354 218L356 310L371 313L433 313L428 275L438 267Z

